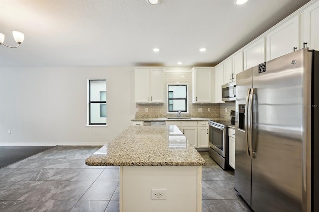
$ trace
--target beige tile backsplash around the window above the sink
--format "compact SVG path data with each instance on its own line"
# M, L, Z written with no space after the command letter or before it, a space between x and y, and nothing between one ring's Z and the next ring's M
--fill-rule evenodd
M198 117L198 118L225 118L230 119L230 110L235 109L235 102L227 102L221 104L192 104L192 73L191 67L180 68L173 72L164 72L165 82L165 102L163 104L136 104L138 111L136 118L165 118L176 117L177 113L168 113L167 105L167 89L168 84L186 84L188 89L188 113L182 113L181 117ZM147 112L146 112L147 108ZM202 112L199 109L202 108ZM226 112L227 109L227 112ZM210 111L208 111L210 110Z

